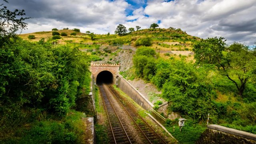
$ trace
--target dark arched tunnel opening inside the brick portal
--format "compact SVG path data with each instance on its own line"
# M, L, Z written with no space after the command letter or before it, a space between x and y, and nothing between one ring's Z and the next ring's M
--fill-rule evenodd
M113 74L107 70L100 72L96 78L96 84L113 84Z

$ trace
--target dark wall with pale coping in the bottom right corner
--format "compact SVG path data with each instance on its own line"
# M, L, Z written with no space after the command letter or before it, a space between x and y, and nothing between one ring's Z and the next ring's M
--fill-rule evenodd
M256 134L226 128L216 124L207 125L196 144L256 144Z

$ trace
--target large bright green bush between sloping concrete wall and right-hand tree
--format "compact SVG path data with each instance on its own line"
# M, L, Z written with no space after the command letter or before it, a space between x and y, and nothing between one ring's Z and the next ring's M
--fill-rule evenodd
M206 118L212 104L211 85L204 74L197 74L191 63L175 60L169 76L163 85L162 96L172 103L171 110L198 120Z

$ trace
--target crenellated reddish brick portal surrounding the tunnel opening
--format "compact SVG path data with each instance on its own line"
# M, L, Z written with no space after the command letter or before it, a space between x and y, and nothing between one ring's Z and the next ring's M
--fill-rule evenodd
M96 78L98 74L102 71L109 71L112 73L114 82L115 78L119 72L120 64L94 64L91 63L90 71L92 72L92 78L94 79L94 84L96 84Z

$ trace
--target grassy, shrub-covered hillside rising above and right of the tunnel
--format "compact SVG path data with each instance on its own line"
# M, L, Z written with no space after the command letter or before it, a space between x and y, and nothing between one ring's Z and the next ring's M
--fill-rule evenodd
M192 48L194 45L200 44L200 38L190 36L180 29L162 28L138 30L124 36L97 34L93 40L88 34L80 32L77 32L76 36L70 36L72 30L57 32L66 32L68 36L52 40L50 31L21 34L20 37L28 40L28 35L34 35L36 38L31 41L45 38L47 42L56 46L65 45L69 48L79 48L86 52L90 60L94 62L121 63L120 73L131 80L134 85L138 84L138 89L144 91L146 97L155 104L156 110L165 101L171 104L167 111L162 113L163 116L168 118L168 115L175 112L176 117L180 116L188 120L184 134L172 132L172 126L177 125L175 119L169 120L166 124L166 128L180 142L190 143L192 142L191 138L194 141L199 138L205 129L208 113L210 113L209 122L211 124L220 124L256 133L256 114L254 112L256 86L255 80L252 78L253 72L250 75L244 75L249 76L249 80L243 95L239 95L234 84L234 82L240 84L239 74L242 71L238 67L227 71L230 74L229 78L234 80L233 82L219 71L218 65L195 64L198 57L195 57ZM205 41L213 42L212 45L218 41L217 38L210 40ZM208 44L207 42L204 44ZM222 42L222 40L218 42ZM221 51L225 54L224 56L230 54L230 57L239 57L236 55L236 50L232 51L232 46L234 49L240 48L241 54L246 53L245 55L250 56L249 58L254 58L253 51L248 51L246 46L236 43L231 47L223 45L223 48L231 50L231 52ZM209 54L213 54L213 52ZM230 59L228 62L234 61L230 65L241 64L236 60ZM249 68L251 68L250 64ZM227 64L227 66L230 65ZM242 63L241 66L244 67L244 64ZM140 88L142 86L148 88ZM154 87L160 92L157 90L150 92L150 89ZM176 127L178 128L178 126ZM178 130L176 131L178 132ZM186 137L186 134L189 136Z

